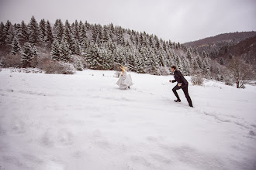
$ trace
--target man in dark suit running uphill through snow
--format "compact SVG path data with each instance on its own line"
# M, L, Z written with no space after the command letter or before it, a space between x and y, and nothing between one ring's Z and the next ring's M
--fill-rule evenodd
M189 97L189 83L187 80L185 80L184 76L179 70L176 70L176 66L171 66L171 71L175 74L175 80L170 80L171 83L175 83L176 81L178 84L172 89L173 93L175 93L175 96L177 97L177 100L175 102L181 102L181 99L178 97L178 93L176 90L182 89L183 92L185 93L185 97L187 98L189 102L189 106L193 107L192 105L192 100Z

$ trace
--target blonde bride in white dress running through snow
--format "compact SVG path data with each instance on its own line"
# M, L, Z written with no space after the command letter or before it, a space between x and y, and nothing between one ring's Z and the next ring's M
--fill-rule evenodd
M120 89L126 89L127 87L130 89L130 86L133 85L132 77L130 74L127 74L127 68L124 66L120 66L122 70L121 75L119 76L119 80L116 84L119 86Z

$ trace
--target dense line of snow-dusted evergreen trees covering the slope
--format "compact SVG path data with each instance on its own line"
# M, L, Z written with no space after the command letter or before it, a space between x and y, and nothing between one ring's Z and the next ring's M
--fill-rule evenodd
M58 62L68 63L74 56L81 56L86 66L95 70L115 70L122 64L133 72L161 75L163 70L168 71L175 65L185 75L210 75L210 59L205 52L199 54L195 48L179 42L165 41L112 23L101 26L56 19L51 25L45 19L38 23L34 17L28 24L1 22L0 46L12 55L21 56L24 67L31 66L40 48L49 51L50 59Z

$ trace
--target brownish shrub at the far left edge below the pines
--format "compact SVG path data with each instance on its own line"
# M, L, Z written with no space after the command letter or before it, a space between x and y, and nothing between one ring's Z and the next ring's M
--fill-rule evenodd
M19 55L8 54L2 57L2 67L21 67L21 57Z

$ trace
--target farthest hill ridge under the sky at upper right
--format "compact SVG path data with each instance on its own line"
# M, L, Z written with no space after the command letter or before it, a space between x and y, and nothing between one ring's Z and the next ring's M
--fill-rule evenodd
M232 32L232 33L223 33L217 36L211 36L205 39L199 39L192 42L185 42L185 46L199 47L204 45L212 45L217 42L233 42L237 43L244 39L256 36L256 32Z

